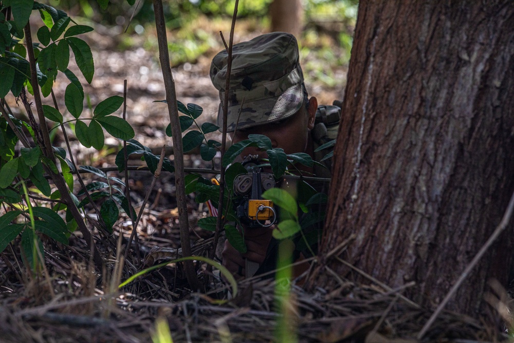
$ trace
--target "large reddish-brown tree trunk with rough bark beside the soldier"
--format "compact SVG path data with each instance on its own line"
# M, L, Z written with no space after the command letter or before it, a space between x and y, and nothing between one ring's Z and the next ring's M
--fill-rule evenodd
M440 302L499 224L514 190L514 3L362 1L343 103L320 264L340 255L407 295ZM506 285L510 224L448 308L478 315Z

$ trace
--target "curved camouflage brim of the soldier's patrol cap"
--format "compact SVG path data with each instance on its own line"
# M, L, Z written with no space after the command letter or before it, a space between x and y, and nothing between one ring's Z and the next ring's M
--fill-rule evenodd
M280 96L243 102L228 107L227 132L252 128L286 119L297 113L304 102L303 85L293 86ZM223 103L223 99L222 99ZM217 124L223 125L223 107L220 103Z

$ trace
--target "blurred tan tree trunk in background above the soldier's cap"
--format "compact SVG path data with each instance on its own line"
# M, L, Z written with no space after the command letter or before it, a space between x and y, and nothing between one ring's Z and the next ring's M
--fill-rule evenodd
M269 5L272 32L289 32L299 38L303 29L301 0L273 0Z

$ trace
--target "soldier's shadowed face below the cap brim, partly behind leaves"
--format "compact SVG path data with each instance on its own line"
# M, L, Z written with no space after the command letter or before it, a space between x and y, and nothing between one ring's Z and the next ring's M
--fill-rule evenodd
M286 154L297 152L310 153L308 143L310 130L314 128L314 119L318 102L316 98L309 99L309 108L302 106L300 111L291 117L279 122L258 125L244 130L237 130L231 133L232 143L237 143L248 139L250 134L261 134L267 136L271 140L273 148L282 148ZM267 158L265 151L258 148L247 148L241 154L241 157L248 155L259 155L259 158Z

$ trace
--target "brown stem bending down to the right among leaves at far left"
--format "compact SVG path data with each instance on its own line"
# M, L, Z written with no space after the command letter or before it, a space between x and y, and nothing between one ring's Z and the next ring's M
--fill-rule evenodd
M34 51L32 50L32 35L30 32L30 21L25 26L25 41L27 43L27 55L29 58L29 64L30 64L30 83L32 84L32 89L34 92L34 102L36 104L36 110L38 111L38 118L41 125L41 134L43 136L43 142L39 142L40 145L43 143L44 147L42 147L42 151L44 155L48 158L50 158L52 161L55 161L55 155L53 154L52 146L50 143L50 135L48 133L48 128L46 127L46 121L45 116L43 115L43 103L41 101L41 94L39 93L39 84L38 84L38 74L36 73L36 65L35 65L35 57L34 57ZM29 107L30 109L30 107ZM36 128L34 128L35 130ZM71 196L68 193L68 189L66 186L66 182L61 174L55 174L51 171L50 168L45 168L47 173L52 177L53 182L56 184L57 189L59 189L59 192L61 193L62 200L66 203L68 209L71 211L71 214L73 215L73 218L77 221L77 224L79 225L79 230L82 233L82 236L84 237L84 240L86 241L86 244L90 248L90 250L93 252L93 258L95 260L95 264L97 267L101 269L103 265L103 259L98 252L98 249L95 246L95 243L93 242L93 239L91 237L91 233L87 229L84 220L82 219L82 216L80 215L79 209L73 202Z

